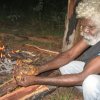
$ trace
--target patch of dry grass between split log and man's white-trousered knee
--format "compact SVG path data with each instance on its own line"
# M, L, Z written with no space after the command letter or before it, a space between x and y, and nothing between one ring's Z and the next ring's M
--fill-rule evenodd
M60 87L42 100L83 100L83 96L74 87Z

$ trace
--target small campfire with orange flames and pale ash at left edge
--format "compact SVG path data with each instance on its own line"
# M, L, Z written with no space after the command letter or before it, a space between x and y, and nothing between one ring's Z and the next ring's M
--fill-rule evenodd
M16 50L16 51L9 50L5 48L4 45L1 45L0 47L0 75L11 73L13 66L16 64L17 59L26 59L25 52L21 52L19 50Z

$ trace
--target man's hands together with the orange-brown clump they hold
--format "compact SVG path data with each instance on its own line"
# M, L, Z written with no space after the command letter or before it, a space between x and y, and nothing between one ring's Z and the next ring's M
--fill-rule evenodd
M18 85L28 86L33 84L35 75L39 74L39 68L37 66L23 63L23 61L17 61L17 64L13 70L13 77Z

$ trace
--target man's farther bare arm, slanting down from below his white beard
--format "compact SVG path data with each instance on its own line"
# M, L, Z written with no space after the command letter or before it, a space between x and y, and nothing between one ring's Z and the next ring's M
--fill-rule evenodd
M40 66L39 73L52 70L52 69L57 69L67 64L71 60L77 58L88 47L89 45L86 43L84 39L82 39L71 49L59 54L52 61Z

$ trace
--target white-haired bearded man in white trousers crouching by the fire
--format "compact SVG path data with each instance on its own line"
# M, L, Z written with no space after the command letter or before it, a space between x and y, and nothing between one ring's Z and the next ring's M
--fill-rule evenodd
M59 54L52 61L38 68L36 75L45 71L60 69L61 76L40 77L23 75L18 84L55 86L82 86L84 100L100 100L100 1L84 0L76 8L77 17L82 19L82 40L74 47ZM95 50L99 46L99 50ZM94 46L95 56L90 56L87 62L75 60L90 46ZM90 50L91 51L91 50ZM89 52L90 55L91 52Z

